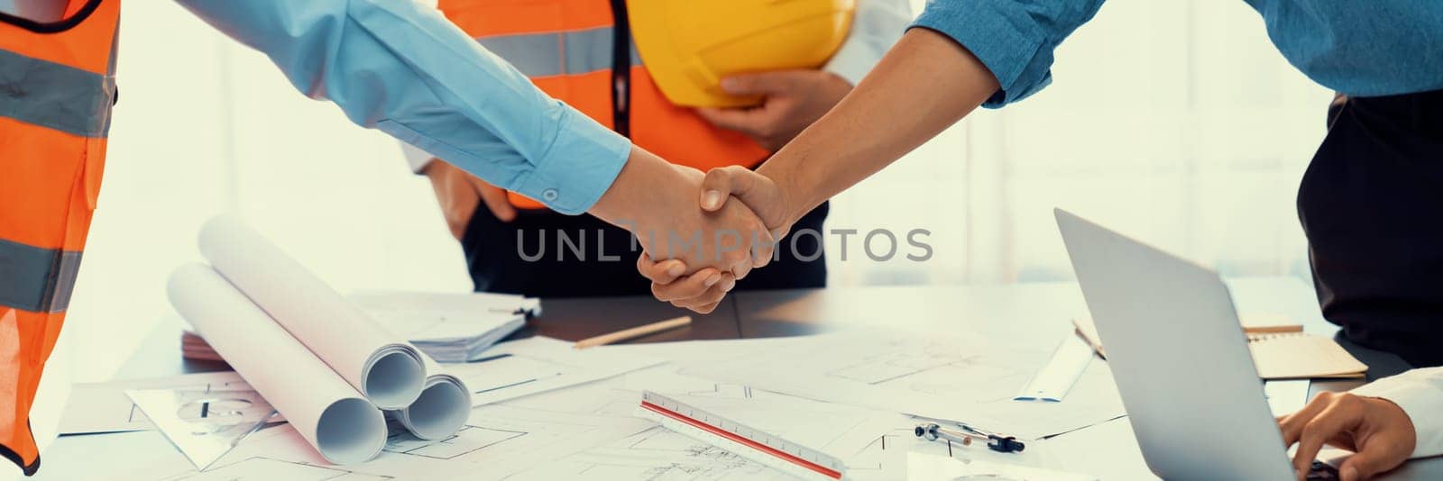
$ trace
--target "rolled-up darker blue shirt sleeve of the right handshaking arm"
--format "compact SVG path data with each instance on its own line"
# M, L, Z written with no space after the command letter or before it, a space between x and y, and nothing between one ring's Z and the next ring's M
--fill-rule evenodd
M999 108L1052 84L1052 50L1092 19L1102 0L931 0L912 27L937 30L973 52L1001 88Z

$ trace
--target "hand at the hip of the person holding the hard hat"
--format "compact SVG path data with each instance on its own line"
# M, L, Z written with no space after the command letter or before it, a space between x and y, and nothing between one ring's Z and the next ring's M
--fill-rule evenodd
M456 240L460 240L466 233L466 225L470 223L470 216L476 213L476 206L481 203L485 203L486 209L491 209L491 213L501 222L511 222L517 217L517 207L511 206L511 200L506 200L505 189L488 184L440 158L431 158L426 164L426 177L431 179L431 190L436 190L436 200L442 206L446 226L450 228Z

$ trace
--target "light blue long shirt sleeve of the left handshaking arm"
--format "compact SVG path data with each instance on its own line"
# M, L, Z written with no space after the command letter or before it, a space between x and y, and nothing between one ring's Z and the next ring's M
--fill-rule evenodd
M631 153L631 141L413 0L179 3L352 122L561 213L590 209Z

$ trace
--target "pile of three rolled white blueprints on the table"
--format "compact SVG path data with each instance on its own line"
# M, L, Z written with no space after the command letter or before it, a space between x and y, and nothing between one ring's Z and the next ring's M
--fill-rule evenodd
M323 458L355 464L380 454L380 409L397 410L420 438L460 429L470 390L459 379L240 219L206 222L201 253L211 265L176 269L170 302Z

